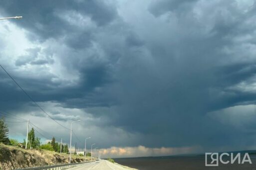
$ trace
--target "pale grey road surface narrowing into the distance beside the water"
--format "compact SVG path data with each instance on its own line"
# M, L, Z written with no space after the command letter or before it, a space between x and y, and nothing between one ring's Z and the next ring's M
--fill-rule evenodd
M71 168L68 170L135 170L135 169L126 168L117 164L113 164L106 160L100 160L99 163L90 163L84 166L79 166L79 167Z

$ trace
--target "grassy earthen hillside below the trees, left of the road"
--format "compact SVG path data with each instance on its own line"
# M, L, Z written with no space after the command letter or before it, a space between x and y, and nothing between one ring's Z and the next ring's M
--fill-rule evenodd
M84 162L84 157L71 155L71 163ZM89 161L90 157L86 157ZM27 167L41 167L55 164L68 164L69 155L41 149L22 149L0 144L0 169L13 170Z

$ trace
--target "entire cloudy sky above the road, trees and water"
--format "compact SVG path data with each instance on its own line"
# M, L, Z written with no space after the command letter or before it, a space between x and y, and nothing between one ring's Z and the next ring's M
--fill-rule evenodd
M105 157L256 149L255 0L5 0L0 64ZM69 143L0 71L0 110ZM5 119L6 121L16 121ZM22 141L26 123L8 123ZM31 126L30 126L31 128Z

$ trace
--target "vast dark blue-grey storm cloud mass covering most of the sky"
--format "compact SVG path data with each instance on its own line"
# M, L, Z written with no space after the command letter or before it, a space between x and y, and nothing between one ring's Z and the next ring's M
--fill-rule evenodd
M254 6L244 12L229 0L211 4L154 0L142 13L139 10L144 9L135 9L138 15L149 17L139 23L124 21L118 7L97 0L4 2L6 13L23 15L17 24L30 31L31 41L54 39L66 46L57 59L78 77L69 86L65 86L68 81L52 81L58 78L53 73L43 78L17 75L16 80L37 101L82 108L101 118L102 125L97 122L100 127L118 127L146 136L130 146L243 145L234 140L237 137L250 141L251 134L222 124L207 113L255 104L253 89L237 87L255 82ZM68 12L89 17L95 25L83 27L79 19L78 25L71 24L57 15L67 17L63 14ZM52 56L57 50L39 49L50 56L46 59L36 58L38 50L28 50L28 55L16 60L16 67L50 67L56 62ZM21 105L29 101L7 77L0 87L4 89L0 93L6 109L10 102ZM58 113L52 112L57 120L64 121L66 117ZM115 145L126 143L116 141Z

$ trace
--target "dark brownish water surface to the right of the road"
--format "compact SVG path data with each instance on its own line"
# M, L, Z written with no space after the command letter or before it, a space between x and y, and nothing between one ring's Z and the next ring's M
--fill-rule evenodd
M250 155L253 164L229 164L205 167L205 156L170 156L114 159L116 163L139 170L256 170L256 155ZM241 158L242 159L242 158Z

